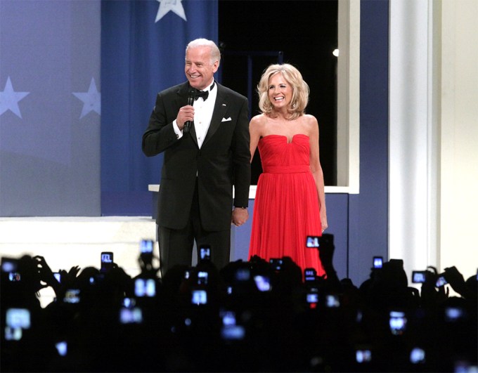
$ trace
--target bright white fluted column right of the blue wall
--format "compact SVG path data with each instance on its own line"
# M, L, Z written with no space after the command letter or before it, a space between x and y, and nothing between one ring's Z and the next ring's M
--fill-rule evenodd
M412 270L437 261L433 1L390 1L389 257Z

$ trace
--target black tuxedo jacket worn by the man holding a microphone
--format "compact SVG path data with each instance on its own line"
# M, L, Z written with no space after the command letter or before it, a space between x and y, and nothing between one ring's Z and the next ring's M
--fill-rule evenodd
M217 84L211 124L201 148L195 129L176 138L173 121L188 102L186 81L157 94L143 152L148 157L164 152L157 224L186 226L198 177L200 216L206 230L231 228L233 205L246 207L250 186L250 135L247 98ZM234 200L233 200L234 186Z

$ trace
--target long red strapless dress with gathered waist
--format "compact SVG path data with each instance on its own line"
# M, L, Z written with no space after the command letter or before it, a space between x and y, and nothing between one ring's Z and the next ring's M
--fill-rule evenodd
M263 173L259 176L252 216L249 256L290 256L298 266L325 271L306 236L321 236L318 194L309 164L309 136L269 135L259 140Z

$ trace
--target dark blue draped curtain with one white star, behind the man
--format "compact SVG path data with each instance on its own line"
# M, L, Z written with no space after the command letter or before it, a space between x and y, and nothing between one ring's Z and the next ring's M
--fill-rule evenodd
M102 2L103 215L151 214L162 155L146 158L141 137L157 92L186 80L186 44L198 37L217 42L217 0Z

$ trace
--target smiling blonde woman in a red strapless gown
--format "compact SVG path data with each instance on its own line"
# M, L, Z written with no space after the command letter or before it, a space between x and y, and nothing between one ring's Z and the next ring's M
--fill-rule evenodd
M327 228L323 172L318 150L318 122L305 107L309 86L289 64L271 65L259 85L262 114L250 122L251 161L259 148L259 176L252 216L249 256L290 256L304 268L325 271L306 236Z

